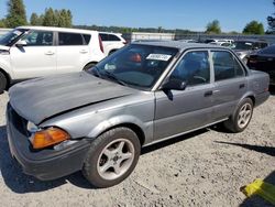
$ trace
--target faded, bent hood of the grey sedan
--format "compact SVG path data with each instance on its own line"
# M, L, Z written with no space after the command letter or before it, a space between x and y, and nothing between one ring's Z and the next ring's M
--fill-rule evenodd
M134 89L81 72L16 84L10 88L9 96L20 116L38 124L54 115L134 92Z

